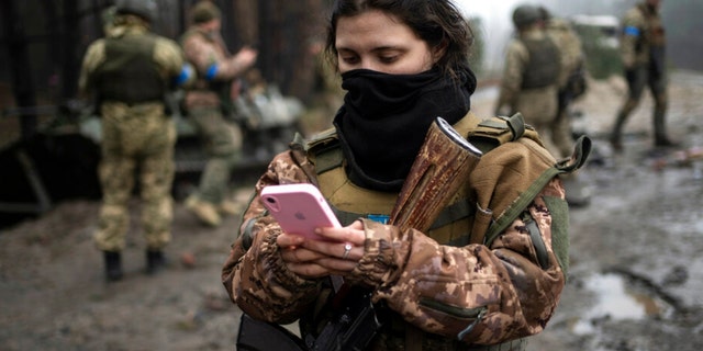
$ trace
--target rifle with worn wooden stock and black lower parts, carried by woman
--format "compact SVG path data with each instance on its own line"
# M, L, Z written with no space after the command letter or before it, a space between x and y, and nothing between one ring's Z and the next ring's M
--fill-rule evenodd
M451 195L466 182L481 156L482 152L444 118L435 118L403 183L389 223L401 230L415 228L425 231ZM338 283L335 279L338 278L332 279L336 286ZM336 291L332 306L335 308L333 318L316 338L306 336L304 343L280 326L263 321L254 324L246 320L250 317L243 315L237 348L247 351L269 350L268 342L281 340L277 350L364 350L381 328L371 302L371 292L344 285ZM245 328L256 330L243 330ZM294 341L283 338L293 338Z

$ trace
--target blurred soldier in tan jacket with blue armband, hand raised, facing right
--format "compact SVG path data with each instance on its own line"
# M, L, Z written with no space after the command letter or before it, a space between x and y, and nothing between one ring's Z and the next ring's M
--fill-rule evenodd
M256 63L257 52L242 48L230 55L220 35L220 9L200 1L191 9L191 27L182 35L186 58L197 71L196 83L185 98L185 107L194 122L208 152L208 163L196 193L186 207L209 226L219 226L223 214L238 208L227 200L232 169L242 148L242 132L226 118L233 113L233 84Z

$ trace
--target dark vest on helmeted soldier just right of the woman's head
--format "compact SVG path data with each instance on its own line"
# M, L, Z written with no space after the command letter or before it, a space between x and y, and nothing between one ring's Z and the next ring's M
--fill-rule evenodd
M559 77L559 49L549 37L522 38L529 53L529 61L523 73L522 89L544 88L557 82Z

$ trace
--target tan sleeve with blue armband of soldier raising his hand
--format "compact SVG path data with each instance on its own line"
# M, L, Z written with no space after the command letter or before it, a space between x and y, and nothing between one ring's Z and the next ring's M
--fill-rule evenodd
M248 67L241 65L236 56L225 57L219 42L208 41L203 35L189 35L183 42L186 58L207 80L232 80Z

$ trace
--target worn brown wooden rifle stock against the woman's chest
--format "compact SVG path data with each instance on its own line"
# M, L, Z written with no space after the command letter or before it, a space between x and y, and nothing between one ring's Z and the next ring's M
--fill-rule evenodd
M427 230L482 155L444 118L435 118L403 183L389 224L402 230Z

